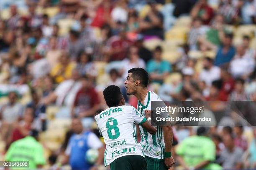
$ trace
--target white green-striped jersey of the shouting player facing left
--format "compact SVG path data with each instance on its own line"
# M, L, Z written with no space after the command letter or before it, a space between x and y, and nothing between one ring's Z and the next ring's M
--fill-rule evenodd
M143 117L145 117L144 110L151 110L151 101L163 101L160 97L155 93L148 91L144 103L138 100L138 111L141 113ZM151 135L142 126L139 126L140 134L141 134L141 145L143 146L144 154L151 158L164 159L164 137L163 137L163 129L161 126L157 126L157 132L155 135Z

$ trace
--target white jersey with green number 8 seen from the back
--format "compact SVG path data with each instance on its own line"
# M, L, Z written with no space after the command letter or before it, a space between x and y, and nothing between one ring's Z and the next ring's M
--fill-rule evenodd
M143 148L136 140L136 124L142 125L146 118L133 106L110 107L95 116L106 150L104 165L127 155L141 155Z

